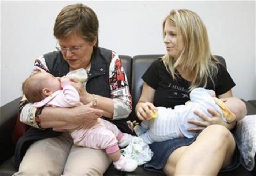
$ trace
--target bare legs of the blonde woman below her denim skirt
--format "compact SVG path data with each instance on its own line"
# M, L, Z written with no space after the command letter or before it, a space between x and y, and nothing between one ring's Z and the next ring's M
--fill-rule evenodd
M217 175L231 163L235 147L228 129L211 125L190 146L174 150L163 171L167 175Z

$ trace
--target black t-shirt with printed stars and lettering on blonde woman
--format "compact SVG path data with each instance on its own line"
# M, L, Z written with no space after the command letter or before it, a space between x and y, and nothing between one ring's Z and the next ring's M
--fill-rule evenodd
M153 104L156 107L174 108L174 106L185 104L189 100L190 92L188 88L191 82L182 77L177 77L174 80L160 58L150 65L142 79L155 89ZM212 80L208 79L205 88L214 90L216 96L226 93L236 85L225 67L221 64L218 64L218 73Z

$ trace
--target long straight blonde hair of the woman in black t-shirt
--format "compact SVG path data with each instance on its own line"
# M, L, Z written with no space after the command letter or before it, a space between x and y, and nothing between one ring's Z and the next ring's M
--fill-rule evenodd
M166 53L163 63L173 79L177 78L176 69L186 70L193 75L189 90L204 84L217 74L218 60L211 54L206 27L200 17L187 9L172 10L163 21L163 29L168 21L176 28L177 36L181 35L184 47L174 59ZM178 41L179 44L179 41Z

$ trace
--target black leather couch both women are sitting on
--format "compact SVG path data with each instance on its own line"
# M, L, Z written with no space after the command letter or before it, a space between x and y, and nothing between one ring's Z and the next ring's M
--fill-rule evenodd
M126 71L129 87L132 94L133 109L139 100L142 91L142 74L150 66L153 60L161 55L137 55L131 58L130 56L120 55L124 70ZM220 62L226 66L225 60L218 56ZM18 114L18 106L20 98L7 103L0 107L0 176L10 176L17 170L12 166L10 159L14 153L15 145L12 143L12 131L15 126L16 117ZM256 106L253 101L246 103L248 114L256 114ZM130 120L134 120L134 112L129 116ZM186 169L186 168L184 168ZM163 173L144 170L142 166L138 167L134 172L127 173L114 169L113 164L110 165L104 174L105 176L163 176ZM253 176L255 171L249 172L242 165L230 172L220 172L218 176Z

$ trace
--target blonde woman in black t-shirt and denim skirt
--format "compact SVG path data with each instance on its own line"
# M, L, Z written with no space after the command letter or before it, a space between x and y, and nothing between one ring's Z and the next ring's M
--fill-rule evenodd
M206 27L195 12L171 11L163 21L163 38L166 55L142 76L142 95L135 109L140 120L148 120L158 106L184 104L195 87L212 89L218 98L232 97L235 83L211 54ZM240 110L246 112L246 107ZM236 122L224 122L217 112L208 111L213 117L195 111L203 121L188 120L197 125L188 129L197 131L196 137L150 144L154 156L144 167L166 175L217 175L236 168L241 155L230 132Z

